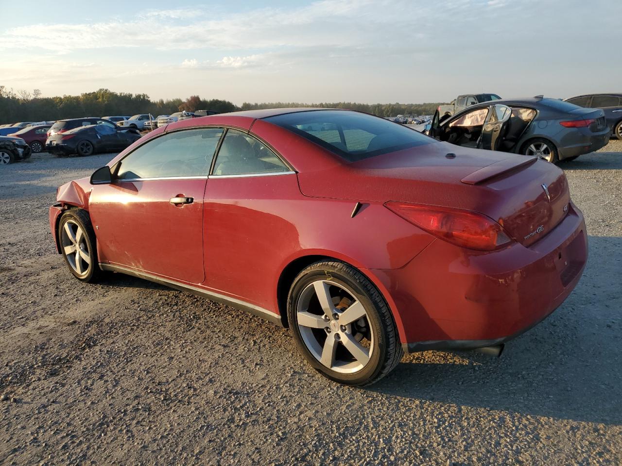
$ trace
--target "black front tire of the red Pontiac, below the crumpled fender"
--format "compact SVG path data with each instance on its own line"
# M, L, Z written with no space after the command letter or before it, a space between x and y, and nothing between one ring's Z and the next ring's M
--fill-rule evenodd
M82 257L77 258L80 253L75 249L75 242L70 239L68 232L65 231L66 224L69 224L68 227L72 229L75 236L77 236L77 229L75 229L75 226L80 227L83 232L81 235L83 241L80 240L80 245L78 245L78 247L81 247L83 252L87 253L89 262L88 267L86 267L86 270L83 270L82 273L80 273L79 270L86 264L86 261ZM91 218L88 216L88 212L78 208L65 211L58 222L58 242L60 243L60 252L73 276L87 283L93 283L100 278L102 272L97 258L95 231L93 231L93 225L91 224ZM73 250L76 251L76 254L68 253L67 246L70 248L73 246ZM70 259L71 257L73 260ZM81 264L81 267L77 266L78 263Z

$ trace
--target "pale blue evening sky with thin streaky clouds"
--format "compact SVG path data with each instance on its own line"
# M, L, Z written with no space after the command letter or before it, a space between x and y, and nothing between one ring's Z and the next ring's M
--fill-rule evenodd
M29 14L35 12L35 14ZM0 85L424 103L622 92L619 0L0 0Z

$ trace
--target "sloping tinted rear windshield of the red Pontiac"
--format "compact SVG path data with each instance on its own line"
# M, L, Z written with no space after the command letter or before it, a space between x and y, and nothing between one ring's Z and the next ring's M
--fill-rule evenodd
M360 112L318 110L267 117L348 162L434 142L413 129Z

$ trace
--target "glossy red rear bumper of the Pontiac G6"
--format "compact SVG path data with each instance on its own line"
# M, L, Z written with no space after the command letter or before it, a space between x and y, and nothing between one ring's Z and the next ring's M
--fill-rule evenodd
M370 271L397 314L404 350L499 344L549 316L577 285L587 261L583 216L569 210L529 247L481 254L437 239L400 269Z

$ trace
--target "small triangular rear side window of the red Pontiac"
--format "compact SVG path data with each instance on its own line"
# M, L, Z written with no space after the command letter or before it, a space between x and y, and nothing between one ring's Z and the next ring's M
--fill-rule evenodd
M229 129L220 145L213 175L284 173L289 168L266 145L244 132Z

